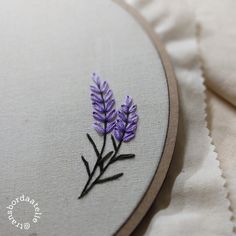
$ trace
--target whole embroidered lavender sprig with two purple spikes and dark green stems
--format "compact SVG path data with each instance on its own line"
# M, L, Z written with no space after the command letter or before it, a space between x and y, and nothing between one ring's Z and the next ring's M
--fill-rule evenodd
M114 108L115 99L113 98L113 92L109 88L107 81L102 81L95 73L92 75L92 80L94 85L90 86L90 90L93 118L95 120L93 127L103 137L103 144L101 150L99 150L92 137L87 134L97 159L91 169L85 157L81 156L88 174L88 180L78 197L79 199L88 194L95 185L118 180L123 176L123 173L114 174L109 177L103 177L103 175L117 161L135 157L135 154L119 154L119 151L122 143L127 143L135 137L138 123L137 106L133 103L133 99L130 96L126 96L124 104L116 111ZM110 133L113 133L114 136ZM104 154L109 134L113 150Z

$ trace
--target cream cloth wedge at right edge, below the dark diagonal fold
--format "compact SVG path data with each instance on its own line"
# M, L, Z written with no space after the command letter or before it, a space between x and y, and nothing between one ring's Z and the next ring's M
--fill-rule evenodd
M208 125L216 145L220 167L226 179L230 209L233 211L234 232L236 232L236 109L226 100L208 91Z

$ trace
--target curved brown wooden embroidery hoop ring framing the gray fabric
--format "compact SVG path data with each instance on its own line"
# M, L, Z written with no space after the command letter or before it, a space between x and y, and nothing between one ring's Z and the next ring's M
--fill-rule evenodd
M113 2L115 2L128 13L130 13L150 37L152 43L154 44L156 50L159 53L163 67L165 69L169 93L168 129L160 163L147 191L140 200L139 204L136 206L136 208L126 220L126 222L124 222L124 224L115 233L115 236L127 236L133 232L133 230L136 228L136 226L140 223L140 221L147 213L148 209L151 207L166 177L172 159L177 136L179 119L179 100L175 74L170 63L170 59L160 39L151 29L146 20L134 8L124 3L123 0L113 0Z

